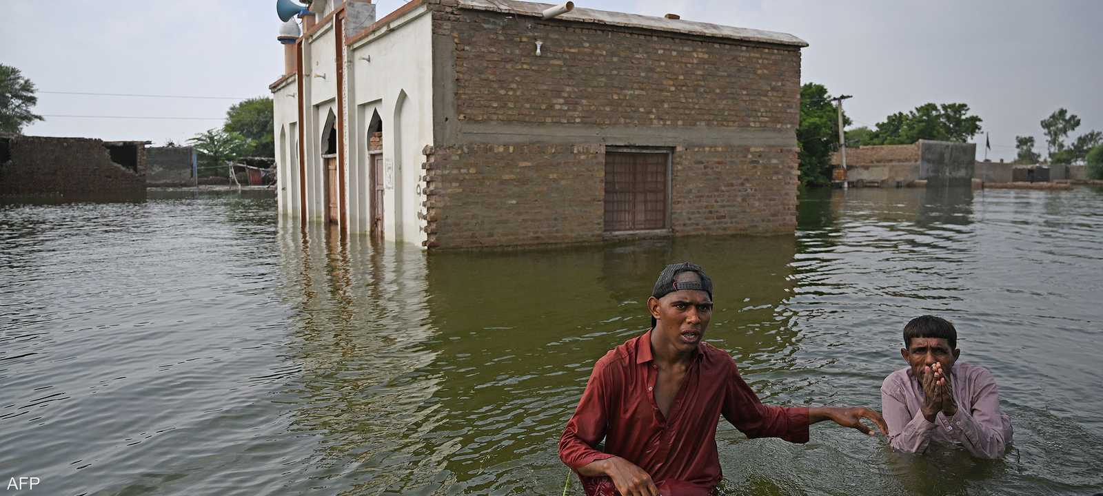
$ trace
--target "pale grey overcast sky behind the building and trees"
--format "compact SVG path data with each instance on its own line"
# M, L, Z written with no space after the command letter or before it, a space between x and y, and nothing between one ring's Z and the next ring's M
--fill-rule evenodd
M377 1L379 17L401 6ZM791 33L810 43L802 83L823 84L854 126L933 101L984 119L993 160L1014 160L1058 108L1103 130L1100 0L578 0L578 8ZM282 73L275 1L9 0L0 63L39 89L33 136L182 143L218 127ZM160 97L74 95L159 95ZM171 98L170 98L171 97ZM195 97L195 98L180 98ZM74 117L96 116L96 117ZM984 158L982 133L977 158Z

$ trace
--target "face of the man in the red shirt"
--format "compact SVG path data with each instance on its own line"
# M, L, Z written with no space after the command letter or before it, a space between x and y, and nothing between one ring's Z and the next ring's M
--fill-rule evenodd
M675 278L678 282L698 281L695 272L683 272ZM650 299L651 315L658 323L660 338L671 343L675 349L688 352L697 348L705 338L705 330L713 317L713 299L700 290L681 290L667 293L662 299Z

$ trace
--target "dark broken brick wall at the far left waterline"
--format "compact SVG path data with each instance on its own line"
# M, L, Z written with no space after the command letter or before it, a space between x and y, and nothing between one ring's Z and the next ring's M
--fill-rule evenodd
M146 150L136 144L136 171L111 162L104 141L86 138L7 138L9 160L0 164L0 195L144 198Z

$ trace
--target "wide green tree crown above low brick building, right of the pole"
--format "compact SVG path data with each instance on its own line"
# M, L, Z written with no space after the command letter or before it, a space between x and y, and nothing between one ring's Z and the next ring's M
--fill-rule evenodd
M981 119L965 104L923 104L877 123L865 144L911 144L919 140L966 142L981 132Z

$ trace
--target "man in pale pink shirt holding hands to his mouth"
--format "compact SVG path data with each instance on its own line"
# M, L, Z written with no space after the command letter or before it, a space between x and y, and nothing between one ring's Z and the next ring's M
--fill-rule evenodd
M982 367L956 363L957 331L945 319L923 315L903 328L908 366L881 385L881 411L896 450L927 451L931 442L998 459L1011 442L1011 421L999 412L996 380Z

